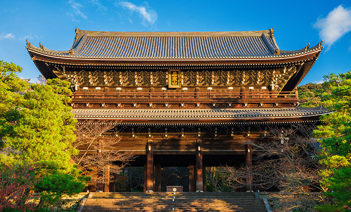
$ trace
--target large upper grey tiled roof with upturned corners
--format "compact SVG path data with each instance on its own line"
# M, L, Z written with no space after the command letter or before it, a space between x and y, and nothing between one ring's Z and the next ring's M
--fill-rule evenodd
M76 29L70 51L31 43L28 49L69 58L97 59L231 59L283 57L321 48L279 50L273 29L223 32L108 32Z

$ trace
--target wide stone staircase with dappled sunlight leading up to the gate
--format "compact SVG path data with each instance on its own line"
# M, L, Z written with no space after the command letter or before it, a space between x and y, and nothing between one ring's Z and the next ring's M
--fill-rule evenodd
M83 203L83 202L82 202ZM243 192L95 192L82 212L108 211L267 211L263 200Z

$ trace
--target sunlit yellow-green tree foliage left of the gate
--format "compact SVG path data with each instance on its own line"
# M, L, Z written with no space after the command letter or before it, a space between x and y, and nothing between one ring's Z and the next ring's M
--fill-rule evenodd
M76 120L67 106L70 83L49 79L28 89L28 83L16 75L21 70L0 61L0 147L22 150L21 154L1 154L0 160L36 167L35 189L43 200L53 203L64 193L81 191L87 180L71 162L78 150L72 147Z

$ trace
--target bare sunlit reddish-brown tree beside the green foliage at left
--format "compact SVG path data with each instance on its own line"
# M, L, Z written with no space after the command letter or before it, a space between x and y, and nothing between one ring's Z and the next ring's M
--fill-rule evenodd
M86 171L92 181L103 182L107 177L113 181L113 174L104 176L104 168L109 167L111 173L119 173L135 157L116 148L121 139L114 129L117 123L118 121L86 119L79 120L76 125L74 147L79 149L79 154L72 156L72 159L81 170Z

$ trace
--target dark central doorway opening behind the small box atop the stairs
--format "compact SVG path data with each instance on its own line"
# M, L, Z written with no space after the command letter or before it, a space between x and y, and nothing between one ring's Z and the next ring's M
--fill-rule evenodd
M183 186L183 191L189 191L189 166L161 166L161 192L166 192L166 186Z

